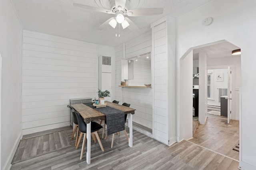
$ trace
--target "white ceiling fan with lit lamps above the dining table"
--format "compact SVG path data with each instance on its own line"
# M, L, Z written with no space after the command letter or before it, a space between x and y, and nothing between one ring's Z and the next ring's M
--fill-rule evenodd
M110 0L110 1L113 1L113 0ZM93 6L73 3L74 6L77 6L80 8L92 10L95 12L103 12L103 13L115 15L115 17L112 17L107 21L105 21L104 23L102 23L99 29L104 29L104 27L106 27L108 24L111 25L113 28L116 28L117 23L119 23L122 25L123 29L128 27L132 31L138 31L139 28L137 27L137 25L128 17L124 17L124 16L126 15L131 17L153 16L153 15L163 14L163 11L164 11L164 8L139 8L139 9L128 10L125 4L126 4L126 0L114 0L114 3L111 9L108 10L104 8L97 8Z

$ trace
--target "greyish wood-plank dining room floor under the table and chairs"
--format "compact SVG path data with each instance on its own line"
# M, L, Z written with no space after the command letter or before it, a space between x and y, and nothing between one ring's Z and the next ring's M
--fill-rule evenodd
M58 130L66 131L71 138L71 128ZM133 140L130 148L124 133L120 137L116 135L111 149L112 137L106 141L101 139L104 152L98 143L92 141L91 164L88 165L85 157L80 160L82 143L75 149L75 139L70 139L72 146L18 162L12 165L11 170L235 170L239 165L236 160L189 141L169 147L135 130Z

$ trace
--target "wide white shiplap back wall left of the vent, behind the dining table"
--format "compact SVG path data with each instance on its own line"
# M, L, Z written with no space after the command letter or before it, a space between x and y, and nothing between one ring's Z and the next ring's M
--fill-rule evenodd
M94 98L98 46L23 31L23 134L70 125L70 98Z

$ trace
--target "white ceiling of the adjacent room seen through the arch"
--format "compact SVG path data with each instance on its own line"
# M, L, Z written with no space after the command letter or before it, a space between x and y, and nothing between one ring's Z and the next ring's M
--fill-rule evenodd
M208 45L206 47L194 49L193 60L198 60L198 53L206 53L207 58L234 57L234 55L231 55L231 53L236 49L240 48L229 42L221 42L214 45Z

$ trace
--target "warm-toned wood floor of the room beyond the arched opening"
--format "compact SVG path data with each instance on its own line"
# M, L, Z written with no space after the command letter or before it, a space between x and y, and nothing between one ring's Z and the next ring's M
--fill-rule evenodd
M239 152L233 147L239 142L239 121L208 117L206 125L198 125L193 139L189 141L239 160Z

